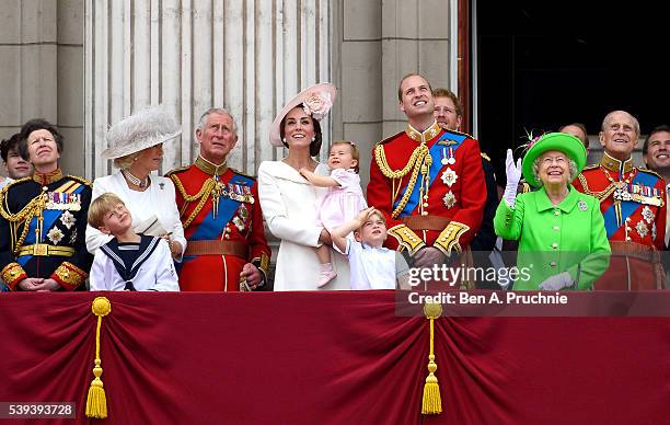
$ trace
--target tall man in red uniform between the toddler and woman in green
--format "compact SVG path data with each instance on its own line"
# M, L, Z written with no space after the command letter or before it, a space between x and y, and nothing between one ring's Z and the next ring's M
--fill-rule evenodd
M415 266L427 267L469 248L486 184L478 142L438 125L428 81L408 74L397 94L407 126L374 147L368 204L386 218L385 245L407 250Z

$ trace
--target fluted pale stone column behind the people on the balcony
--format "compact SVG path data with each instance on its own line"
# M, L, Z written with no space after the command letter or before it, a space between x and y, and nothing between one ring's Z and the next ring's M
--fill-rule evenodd
M240 128L229 162L255 174L261 161L284 156L268 142L276 112L301 89L331 80L327 0L85 1L91 176L112 172L100 158L108 125L158 103L182 123L161 172L195 159L200 114L224 106Z

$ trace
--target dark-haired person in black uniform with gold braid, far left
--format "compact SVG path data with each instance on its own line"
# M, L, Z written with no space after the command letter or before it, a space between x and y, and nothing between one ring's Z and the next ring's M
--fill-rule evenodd
M0 192L0 277L10 290L85 289L91 185L58 168L62 136L54 125L32 119L21 137L21 156L35 172Z

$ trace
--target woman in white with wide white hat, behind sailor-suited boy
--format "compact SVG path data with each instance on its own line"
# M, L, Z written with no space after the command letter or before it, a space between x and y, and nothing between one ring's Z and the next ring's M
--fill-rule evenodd
M103 158L113 159L119 170L93 182L93 199L103 193L116 194L132 214L137 233L169 239L170 251L180 260L186 249L170 179L151 175L163 159L163 142L173 140L182 130L177 123L159 107L149 107L112 125L107 131L108 148ZM94 253L111 236L86 227L86 248Z

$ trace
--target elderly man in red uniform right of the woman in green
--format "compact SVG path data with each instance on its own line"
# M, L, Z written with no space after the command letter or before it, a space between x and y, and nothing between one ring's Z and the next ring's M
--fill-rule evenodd
M610 268L596 289L660 289L665 275L659 252L666 234L666 183L657 173L633 165L639 138L637 119L625 111L602 122L599 164L584 169L574 186L600 200L612 248Z

